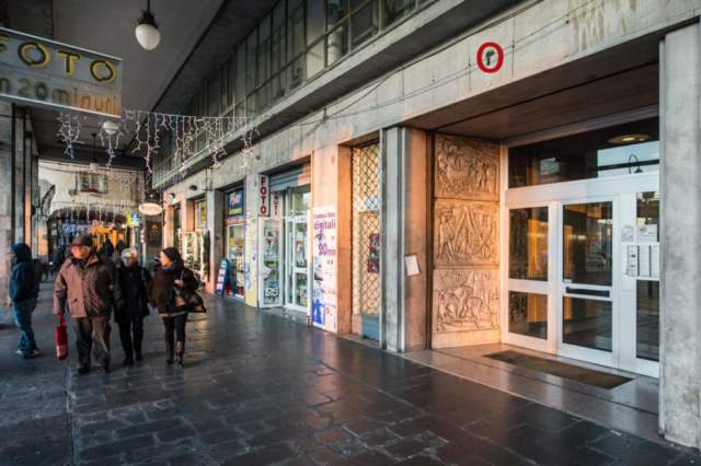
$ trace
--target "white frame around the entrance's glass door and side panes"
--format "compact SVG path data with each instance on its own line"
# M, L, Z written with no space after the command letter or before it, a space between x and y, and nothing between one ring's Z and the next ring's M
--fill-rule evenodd
M642 360L635 354L636 328L636 279L624 276L625 248L620 241L621 225L636 224L636 199L639 193L659 191L659 173L643 173L621 175L605 178L594 178L577 182L558 183L552 185L530 186L507 189L504 191L504 276L506 290L502 293L503 341L521 346L536 351L560 354L568 358L582 359L621 370L657 377L659 363ZM563 215L564 205L613 201L613 280L610 287L610 301L613 303L613 348L611 353L605 351L579 348L562 342L562 296L568 283L563 283ZM548 282L529 282L527 280L508 279L508 244L509 222L508 210L528 207L549 207L549 259ZM637 279L640 280L640 279ZM598 288L594 286L576 284L576 288ZM524 291L548 294L548 340L508 333L508 291ZM578 296L581 298L581 296ZM595 300L597 296L586 296ZM602 300L602 298L598 298ZM631 329L633 331L631 331Z

